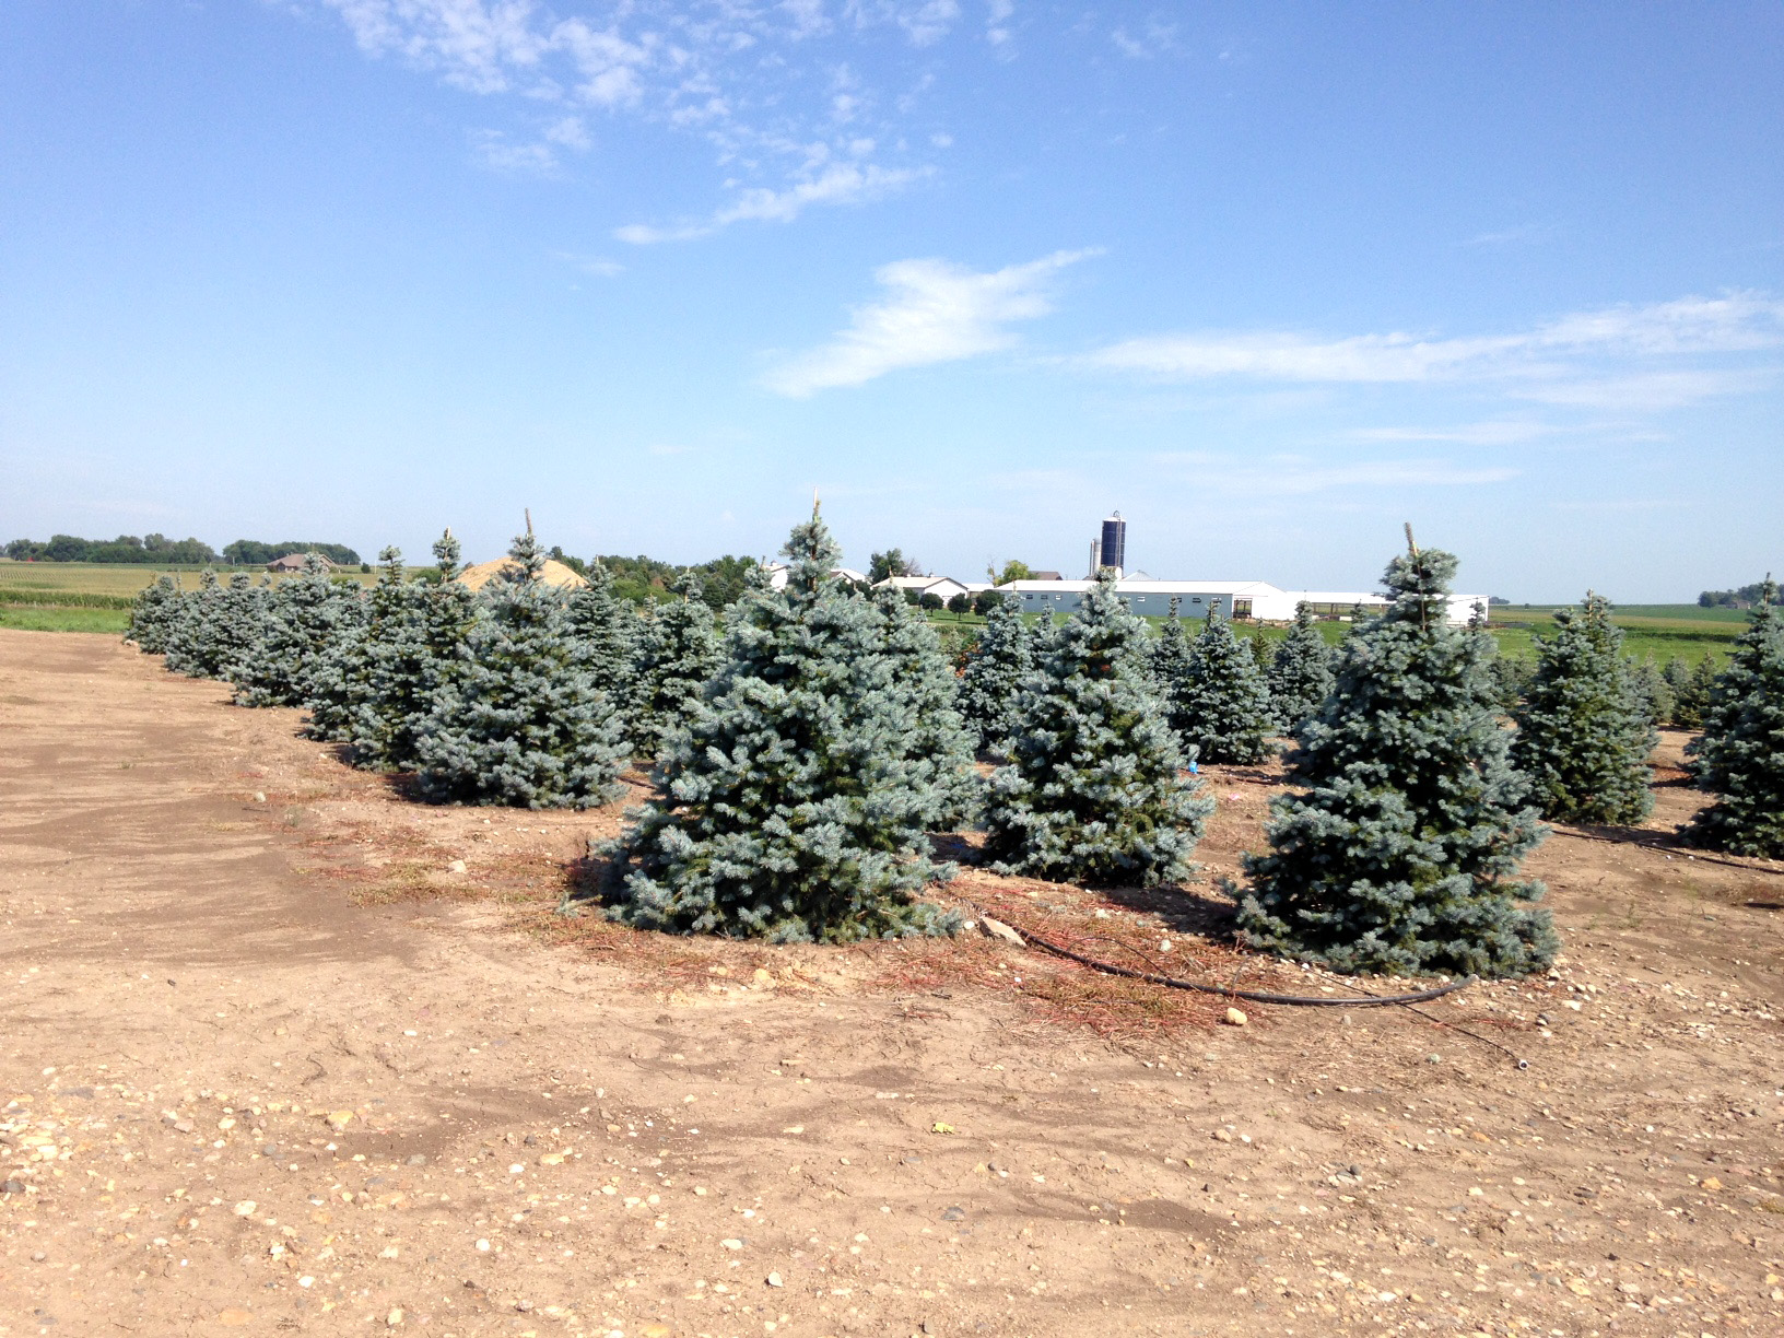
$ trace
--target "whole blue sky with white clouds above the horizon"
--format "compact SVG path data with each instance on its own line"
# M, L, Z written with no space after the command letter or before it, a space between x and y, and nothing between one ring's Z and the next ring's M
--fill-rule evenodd
M11 0L0 539L1784 569L1784 9Z

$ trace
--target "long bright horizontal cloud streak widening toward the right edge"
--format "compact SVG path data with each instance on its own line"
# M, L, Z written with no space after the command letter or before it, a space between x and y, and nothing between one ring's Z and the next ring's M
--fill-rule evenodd
M1085 364L1160 380L1267 382L1516 382L1516 394L1549 403L1615 407L1616 387L1641 391L1648 407L1725 394L1736 380L1698 369L1643 369L1606 376L1615 364L1747 353L1784 344L1784 303L1759 293L1618 305L1561 316L1504 335L1363 334L1338 339L1299 332L1145 335L1086 355ZM1602 387L1602 389L1595 389Z

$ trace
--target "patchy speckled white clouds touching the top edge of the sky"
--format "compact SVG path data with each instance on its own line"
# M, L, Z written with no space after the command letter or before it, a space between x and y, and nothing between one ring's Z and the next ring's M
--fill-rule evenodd
M301 2L301 0L300 0ZM922 87L894 96L851 57L929 48L962 27L958 0L309 0L360 50L469 93L510 95L516 125L478 136L496 171L551 173L594 145L589 116L635 116L705 137L733 200L698 223L635 223L626 241L701 237L810 203L880 198L929 164L910 125ZM580 12L578 12L580 11ZM1008 41L1013 0L990 0L987 41Z

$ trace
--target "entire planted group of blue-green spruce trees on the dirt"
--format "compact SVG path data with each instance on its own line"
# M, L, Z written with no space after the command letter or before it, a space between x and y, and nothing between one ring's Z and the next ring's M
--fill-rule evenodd
M421 580L387 549L369 592L319 564L271 589L157 583L132 635L244 705L307 706L316 737L416 771L441 801L603 803L628 756L655 760L660 797L610 847L607 901L673 931L944 931L917 899L951 876L928 833L967 822L1003 872L1181 880L1211 808L1185 765L1258 760L1292 726L1292 790L1249 862L1249 942L1342 969L1506 974L1554 951L1527 904L1540 885L1515 878L1538 817L1647 812L1652 724L1597 596L1540 644L1513 733L1491 635L1447 623L1447 553L1397 558L1390 607L1336 657L1304 610L1268 667L1218 617L1152 639L1104 580L1061 626L994 610L958 678L921 612L833 574L815 514L785 555L785 587L751 578L723 640L692 587L640 619L599 569L574 592L544 583L532 535L482 596L453 580L448 535ZM1698 835L1730 849L1784 846L1770 619L1763 605L1698 740L1722 794ZM983 780L978 749L1001 762Z

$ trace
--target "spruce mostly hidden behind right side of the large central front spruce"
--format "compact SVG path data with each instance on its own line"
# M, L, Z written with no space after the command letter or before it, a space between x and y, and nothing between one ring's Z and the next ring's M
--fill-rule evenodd
M881 617L880 651L890 665L890 710L912 721L904 753L912 785L928 797L921 821L929 831L954 831L979 805L976 735L960 717L960 678L928 617L897 591L871 598Z

